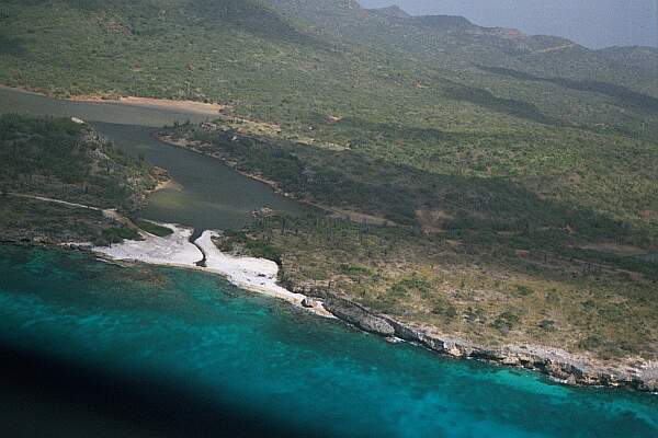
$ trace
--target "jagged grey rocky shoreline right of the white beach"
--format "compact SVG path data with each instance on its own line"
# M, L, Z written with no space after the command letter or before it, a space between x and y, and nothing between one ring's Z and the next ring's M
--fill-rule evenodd
M290 285L290 290L322 300L325 309L336 318L370 333L396 337L458 359L523 368L549 376L569 385L626 388L658 392L658 364L636 367L611 367L593 359L577 357L557 348L531 345L506 345L488 348L439 333L434 327L399 321L355 303L332 290L306 285Z

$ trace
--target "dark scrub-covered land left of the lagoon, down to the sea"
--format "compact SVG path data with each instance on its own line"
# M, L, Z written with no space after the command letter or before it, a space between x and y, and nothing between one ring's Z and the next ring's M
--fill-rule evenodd
M0 116L1 240L106 244L138 239L97 209L138 209L158 177L150 164L126 157L87 125Z

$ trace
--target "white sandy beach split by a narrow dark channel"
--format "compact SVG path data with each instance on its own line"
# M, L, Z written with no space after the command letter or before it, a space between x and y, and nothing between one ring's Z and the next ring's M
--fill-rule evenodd
M185 267L218 274L239 288L303 307L302 301L306 298L304 295L293 293L276 284L279 274L276 263L264 258L238 257L223 253L212 240L218 234L216 231L205 231L193 244L190 242L192 229L172 223L158 224L172 229L173 233L159 238L141 232L143 241L126 240L112 246L94 246L92 251L114 261ZM206 267L197 266L204 254ZM322 316L332 316L319 302L308 310Z

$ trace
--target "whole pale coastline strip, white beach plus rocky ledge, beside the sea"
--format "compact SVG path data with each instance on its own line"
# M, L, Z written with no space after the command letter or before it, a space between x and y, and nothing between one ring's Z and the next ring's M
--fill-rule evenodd
M144 241L124 241L113 246L77 242L39 243L87 252L112 263L143 263L216 274L241 289L281 299L320 316L336 318L359 330L387 339L401 339L454 359L527 369L548 376L559 384L658 393L658 362L645 361L635 366L619 364L614 367L589 356L537 345L504 345L496 348L478 345L441 333L432 326L377 313L336 290L316 289L308 285L279 285L279 266L274 262L222 253L212 242L216 231L204 231L202 237L191 242L192 229L159 224L172 228L174 233L158 238L141 231ZM2 243L34 245L30 242ZM205 261L206 266L198 266L201 261Z

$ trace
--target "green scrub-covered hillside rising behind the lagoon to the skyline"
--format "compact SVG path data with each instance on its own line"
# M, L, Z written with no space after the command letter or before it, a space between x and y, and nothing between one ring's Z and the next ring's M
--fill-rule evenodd
M332 177L386 181L376 206L322 203L407 223L447 209L495 228L588 211L576 217L657 235L658 90L639 67L650 51L338 0L5 1L0 16L7 84L223 102L280 125L271 134Z

